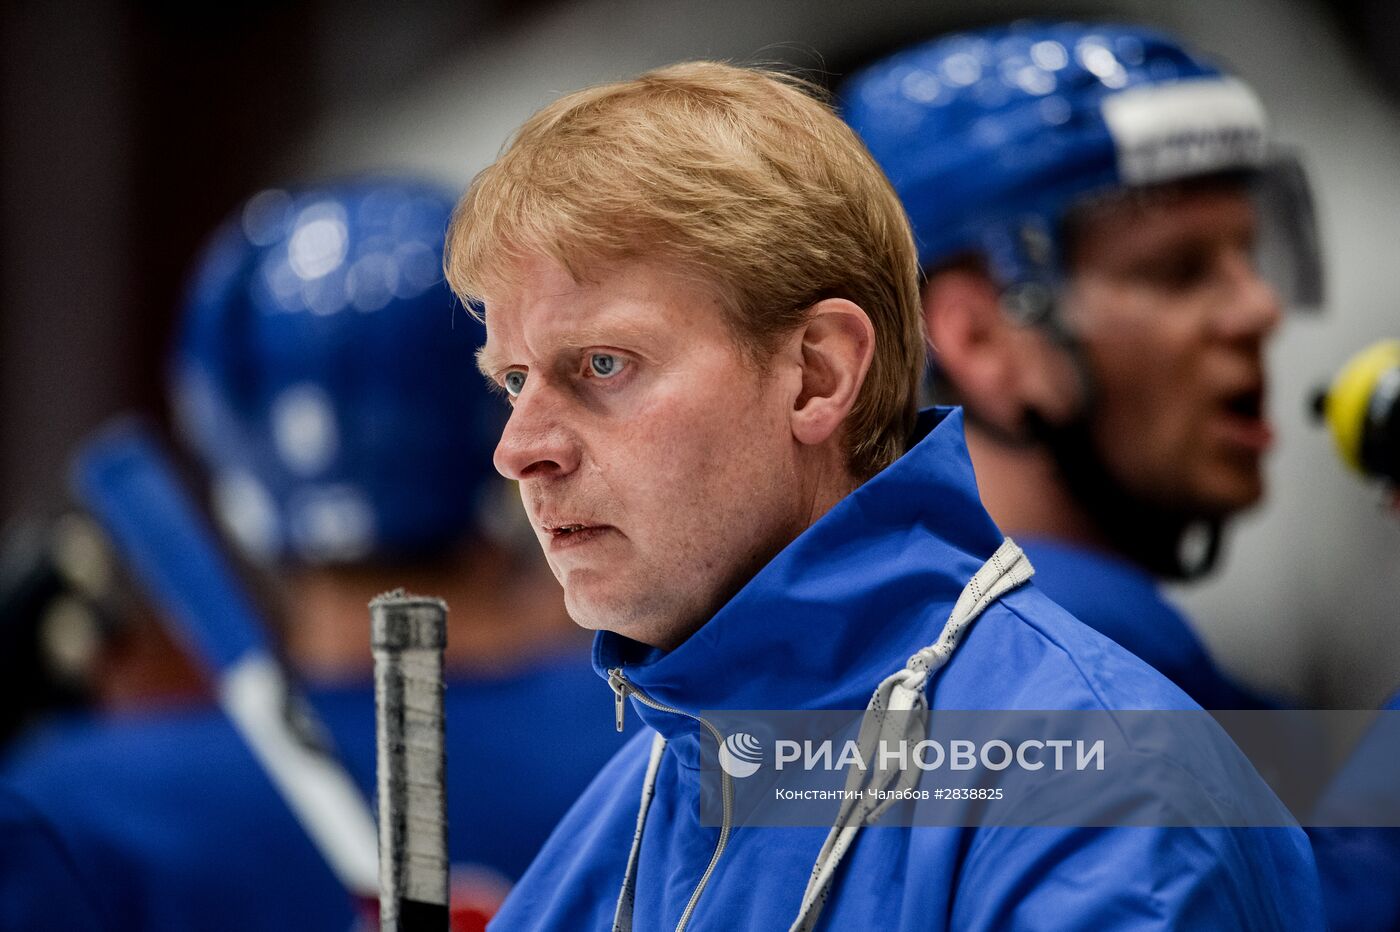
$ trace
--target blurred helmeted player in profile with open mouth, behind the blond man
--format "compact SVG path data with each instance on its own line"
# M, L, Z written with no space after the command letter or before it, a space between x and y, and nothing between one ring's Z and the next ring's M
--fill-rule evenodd
M1253 91L1102 24L951 35L857 74L846 119L918 242L938 389L981 498L1075 616L1205 708L1270 708L1159 591L1264 494L1268 339L1320 302L1302 169ZM1313 833L1337 928L1393 928L1400 847ZM1366 859L1369 858L1369 861Z

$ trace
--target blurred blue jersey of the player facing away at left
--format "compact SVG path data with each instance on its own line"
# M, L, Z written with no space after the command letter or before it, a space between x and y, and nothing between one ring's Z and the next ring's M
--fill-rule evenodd
M309 700L370 798L372 689ZM455 904L475 897L466 905L490 914L620 744L612 693L585 658L568 656L449 680L445 702ZM344 932L357 922L350 894L216 708L55 726L17 749L6 772L63 838L112 928Z

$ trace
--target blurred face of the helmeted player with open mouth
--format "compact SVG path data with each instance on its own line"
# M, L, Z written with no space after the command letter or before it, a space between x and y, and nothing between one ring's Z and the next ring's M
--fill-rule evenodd
M1264 344L1280 301L1235 186L1183 186L1084 217L1065 301L1096 382L1093 431L1138 495L1221 516L1263 494Z

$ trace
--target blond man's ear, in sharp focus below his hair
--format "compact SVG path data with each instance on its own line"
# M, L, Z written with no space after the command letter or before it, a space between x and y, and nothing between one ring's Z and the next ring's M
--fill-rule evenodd
M792 403L792 437L801 444L822 444L855 406L875 357L875 327L855 304L826 298L812 305L795 348L802 388Z

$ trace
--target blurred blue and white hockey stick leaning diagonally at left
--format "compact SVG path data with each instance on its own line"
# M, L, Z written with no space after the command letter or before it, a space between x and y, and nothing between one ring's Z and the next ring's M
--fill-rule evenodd
M298 730L291 693L263 623L160 445L125 420L83 446L73 467L81 504L106 529L162 619L217 683L218 701L346 889L378 896L375 824L342 764Z

